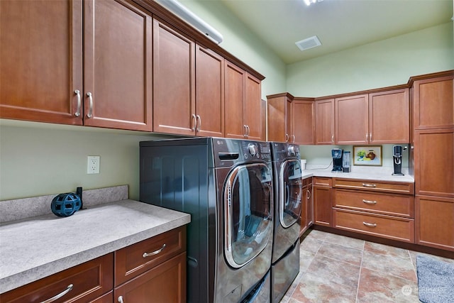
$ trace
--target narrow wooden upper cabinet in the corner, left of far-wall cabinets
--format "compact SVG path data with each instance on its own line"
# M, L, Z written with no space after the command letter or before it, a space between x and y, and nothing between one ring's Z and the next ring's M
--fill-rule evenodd
M267 96L268 141L289 142L292 136L292 100L288 93Z

